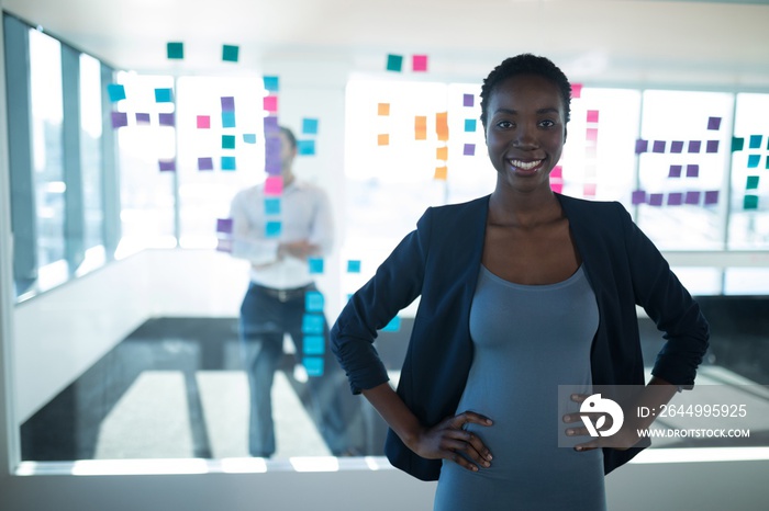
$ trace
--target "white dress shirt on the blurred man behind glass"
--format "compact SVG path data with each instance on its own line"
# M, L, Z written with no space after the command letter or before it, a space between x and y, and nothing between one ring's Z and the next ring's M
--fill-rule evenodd
M280 200L280 213L268 215L265 198ZM314 184L293 180L280 195L265 195L264 184L238 192L232 201L233 257L252 262L250 280L276 289L302 287L313 282L309 262L278 257L282 242L307 240L320 247L315 257L331 253L334 225L326 193ZM280 222L280 234L267 237L267 223Z

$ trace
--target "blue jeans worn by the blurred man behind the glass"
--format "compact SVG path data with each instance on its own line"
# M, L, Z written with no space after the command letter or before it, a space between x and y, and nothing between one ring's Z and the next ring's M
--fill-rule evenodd
M275 454L275 423L272 421L272 382L283 356L283 334L288 333L303 353L302 320L304 292L314 286L277 296L252 283L241 306L241 345L250 390L248 450L252 456L269 457ZM358 431L360 401L349 391L344 372L328 347L328 325L323 318L323 375L310 376L310 415L334 455L360 451L364 434ZM320 355L319 355L320 356Z

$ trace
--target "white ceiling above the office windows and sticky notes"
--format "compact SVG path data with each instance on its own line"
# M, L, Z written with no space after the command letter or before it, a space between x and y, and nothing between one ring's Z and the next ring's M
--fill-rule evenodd
M501 58L549 56L572 80L769 90L769 2L654 0L0 0L111 65L227 73L270 61L484 76ZM166 43L185 43L171 63ZM222 45L239 46L237 64Z

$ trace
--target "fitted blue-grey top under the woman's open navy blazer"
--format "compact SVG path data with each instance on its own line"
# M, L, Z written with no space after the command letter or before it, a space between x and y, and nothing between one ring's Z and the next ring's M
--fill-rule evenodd
M444 461L435 511L605 509L601 450L558 446L558 435L566 438L561 411L579 411L568 402L559 411L558 385L589 389L598 323L595 295L581 266L548 285L514 284L481 266L470 309L475 353L457 412L494 421L466 427L493 461L477 473Z

